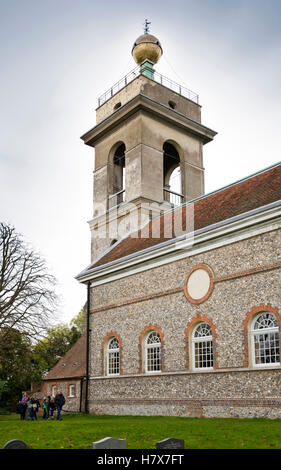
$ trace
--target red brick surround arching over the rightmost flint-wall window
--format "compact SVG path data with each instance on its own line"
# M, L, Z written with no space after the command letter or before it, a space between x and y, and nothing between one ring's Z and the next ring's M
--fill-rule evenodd
M280 333L280 341L281 341L281 315L278 312L276 307L272 307L271 304L263 304L260 303L259 305L255 305L246 313L246 317L242 322L243 325L243 366L249 367L250 358L249 358L249 343L251 341L250 338L250 323L254 316L258 313L262 312L271 312L275 315L278 325L279 325L279 333Z

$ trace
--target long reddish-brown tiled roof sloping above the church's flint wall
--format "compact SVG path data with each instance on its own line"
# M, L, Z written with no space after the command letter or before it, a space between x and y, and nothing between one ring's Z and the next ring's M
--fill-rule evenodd
M194 231L279 200L281 200L281 163L190 201L194 204ZM165 238L164 225L166 230L169 224L172 224L174 228L178 221L181 223L181 217L178 217L181 212L183 227L186 226L186 211L184 209L185 205L182 205L160 217L158 238L152 237L151 233L153 233L153 224L159 224L159 218L149 222L149 232L148 230L147 232L150 236L141 238L140 230L130 234L127 238L113 245L92 265L88 266L83 274L93 268L171 240L171 238ZM173 230L173 233L175 233L175 230Z

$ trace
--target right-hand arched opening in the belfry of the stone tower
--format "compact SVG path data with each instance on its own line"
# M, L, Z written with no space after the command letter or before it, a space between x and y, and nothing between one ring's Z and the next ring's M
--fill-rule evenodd
M174 205L183 202L180 156L169 142L163 145L164 154L164 200Z

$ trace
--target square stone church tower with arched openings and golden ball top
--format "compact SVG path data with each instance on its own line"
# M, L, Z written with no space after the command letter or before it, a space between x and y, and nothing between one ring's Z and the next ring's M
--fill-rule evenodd
M153 217L204 194L202 148L216 132L201 124L198 95L159 74L160 41L134 43L137 67L104 93L96 125L91 261Z

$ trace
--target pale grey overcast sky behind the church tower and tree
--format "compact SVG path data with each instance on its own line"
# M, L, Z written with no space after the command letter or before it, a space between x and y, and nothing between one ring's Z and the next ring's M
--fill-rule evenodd
M86 301L97 99L135 67L144 19L160 73L199 94L206 192L281 160L281 1L0 0L0 220L59 282L58 322Z

